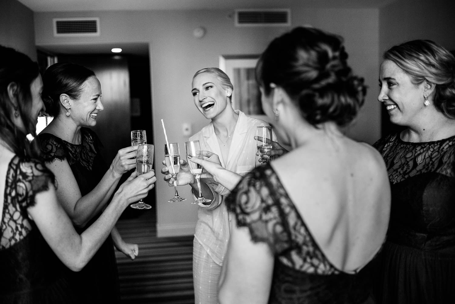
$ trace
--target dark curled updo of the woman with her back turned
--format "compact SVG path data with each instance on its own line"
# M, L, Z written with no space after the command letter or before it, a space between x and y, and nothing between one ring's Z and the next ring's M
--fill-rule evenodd
M297 27L275 38L256 65L256 80L266 95L282 87L313 126L351 122L364 102L363 78L352 74L341 37Z

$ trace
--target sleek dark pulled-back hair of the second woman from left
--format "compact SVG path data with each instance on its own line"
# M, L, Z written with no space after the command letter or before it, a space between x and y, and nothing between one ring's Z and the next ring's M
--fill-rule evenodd
M46 113L57 116L61 109L60 95L81 97L82 84L95 72L75 63L62 62L48 67L43 75L43 101Z

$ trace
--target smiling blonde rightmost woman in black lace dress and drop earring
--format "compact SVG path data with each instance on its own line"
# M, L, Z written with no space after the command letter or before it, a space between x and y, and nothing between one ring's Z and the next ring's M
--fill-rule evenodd
M387 304L455 302L455 58L433 41L384 54L378 100L406 129L374 144L392 209L378 284Z

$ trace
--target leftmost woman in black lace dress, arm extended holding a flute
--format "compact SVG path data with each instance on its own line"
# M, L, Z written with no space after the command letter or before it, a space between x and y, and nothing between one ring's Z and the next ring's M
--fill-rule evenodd
M82 303L64 269L80 271L129 203L147 196L154 173L136 173L80 235L56 198L54 175L38 160L35 135L42 80L38 65L0 46L0 303ZM147 178L150 178L147 180ZM56 185L56 186L55 186Z

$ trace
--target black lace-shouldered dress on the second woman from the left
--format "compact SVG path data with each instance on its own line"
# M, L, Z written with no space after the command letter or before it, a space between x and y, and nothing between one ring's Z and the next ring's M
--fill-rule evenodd
M89 128L81 128L81 144L66 142L55 135L40 133L38 140L41 148L41 157L45 162L66 160L71 167L81 196L90 193L106 173L108 167L101 155L101 142L96 133ZM58 182L58 181L57 181ZM85 227L75 227L82 233L96 221L98 213ZM81 303L119 303L120 292L114 244L111 236L101 245L90 262L80 271L68 271L66 276L71 282L74 292L84 290L84 299Z

